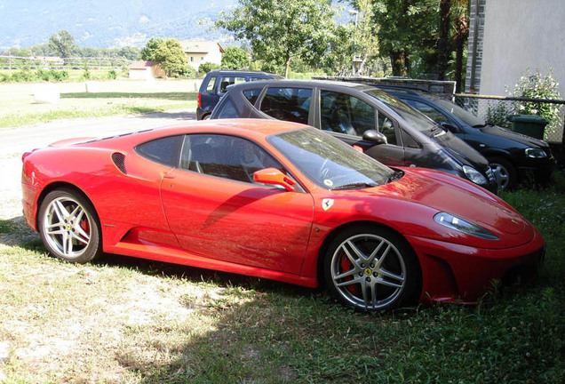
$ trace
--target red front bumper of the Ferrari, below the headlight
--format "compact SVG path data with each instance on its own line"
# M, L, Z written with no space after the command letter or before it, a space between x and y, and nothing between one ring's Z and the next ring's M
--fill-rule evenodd
M493 280L533 279L545 255L544 238L537 230L529 243L499 250L407 238L422 268L423 301L476 302L492 287Z

